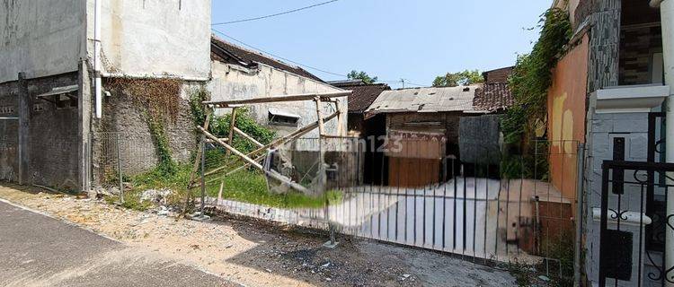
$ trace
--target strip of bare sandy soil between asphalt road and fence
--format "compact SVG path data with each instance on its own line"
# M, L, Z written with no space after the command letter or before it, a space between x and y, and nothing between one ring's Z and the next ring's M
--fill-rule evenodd
M265 222L178 220L9 184L0 184L0 198L245 286L516 284L507 272L430 251L349 238L327 249L324 234Z

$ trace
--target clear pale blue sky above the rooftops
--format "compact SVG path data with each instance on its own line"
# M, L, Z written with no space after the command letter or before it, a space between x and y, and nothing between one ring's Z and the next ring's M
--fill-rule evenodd
M279 13L324 0L213 0L213 22ZM430 85L464 69L514 65L537 39L546 0L340 0L217 30L279 57L335 74ZM220 36L222 37L222 36ZM226 39L226 38L225 38ZM231 41L231 39L228 39ZM343 77L305 69L324 80ZM399 87L399 83L390 83Z

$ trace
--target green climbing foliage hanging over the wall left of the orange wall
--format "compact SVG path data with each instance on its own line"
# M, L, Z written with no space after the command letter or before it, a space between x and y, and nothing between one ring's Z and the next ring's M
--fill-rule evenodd
M539 143L525 139L533 139L537 127L545 126L552 71L572 37L572 25L569 14L557 8L543 13L538 24L541 33L537 43L530 54L518 57L509 79L515 105L501 120L504 142L510 150L501 160L501 175L507 178L547 177L547 158L532 154Z

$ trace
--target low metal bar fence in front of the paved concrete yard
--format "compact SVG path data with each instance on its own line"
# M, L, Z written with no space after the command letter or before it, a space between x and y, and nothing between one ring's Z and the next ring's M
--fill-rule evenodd
M288 178L318 177L318 141L300 139L285 147L292 162ZM292 193L281 195L289 202L276 206L228 198L226 192L210 204L228 213L332 226L344 235L475 262L536 265L541 274L572 283L581 178L577 142L532 142L529 154L506 159L497 151L465 162L448 154L455 146L434 135L323 141L326 193L333 197L327 208L293 203ZM220 183L215 180L208 189Z

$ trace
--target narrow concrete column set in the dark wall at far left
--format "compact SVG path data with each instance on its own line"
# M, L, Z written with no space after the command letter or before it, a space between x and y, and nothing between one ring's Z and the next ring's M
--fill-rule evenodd
M27 185L30 180L29 123L31 119L31 95L28 82L23 73L19 73L19 184Z

